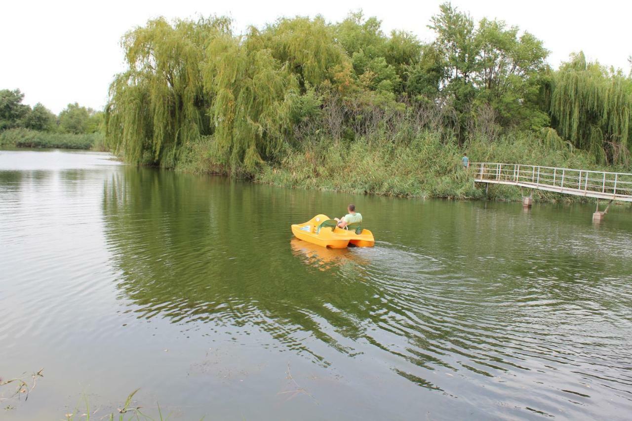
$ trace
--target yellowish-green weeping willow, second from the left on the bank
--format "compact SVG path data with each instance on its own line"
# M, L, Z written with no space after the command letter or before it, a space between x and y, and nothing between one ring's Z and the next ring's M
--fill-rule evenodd
M298 82L260 43L225 35L212 40L204 63L204 86L214 97L214 144L231 172L252 174L279 156L291 128Z

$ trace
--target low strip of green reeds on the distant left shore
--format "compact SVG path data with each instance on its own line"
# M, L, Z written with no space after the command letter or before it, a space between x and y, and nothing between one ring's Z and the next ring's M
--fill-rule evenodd
M0 132L0 146L60 149L102 149L103 135L90 133L49 133L47 131L15 128Z

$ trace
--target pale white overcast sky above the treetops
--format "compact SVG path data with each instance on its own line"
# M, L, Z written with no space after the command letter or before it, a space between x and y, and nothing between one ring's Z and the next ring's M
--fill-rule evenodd
M2 1L0 89L20 88L25 104L42 102L54 113L67 104L102 109L113 76L125 70L121 36L150 18L228 15L236 32L280 16L323 15L342 20L362 9L382 20L384 32L402 29L432 40L430 17L443 1ZM630 70L631 1L452 1L475 20L499 18L544 41L557 67L574 51L588 59Z

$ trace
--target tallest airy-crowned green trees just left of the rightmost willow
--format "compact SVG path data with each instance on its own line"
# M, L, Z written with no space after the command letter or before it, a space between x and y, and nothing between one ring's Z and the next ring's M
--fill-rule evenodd
M470 15L442 4L430 28L437 32L434 47L442 68L441 96L459 115L463 131L471 109L489 105L501 126L538 129L548 123L538 107L548 51L542 41L504 21Z

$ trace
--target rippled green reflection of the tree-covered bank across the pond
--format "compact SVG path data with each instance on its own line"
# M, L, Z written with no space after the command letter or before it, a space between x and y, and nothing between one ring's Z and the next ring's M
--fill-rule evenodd
M632 236L576 208L356 197L379 243L327 250L290 240L289 224L347 197L135 168L103 191L116 283L139 317L239 327L237 341L322 367L387 361L446 396L537 391L521 411L630 405L615 391L631 387Z

